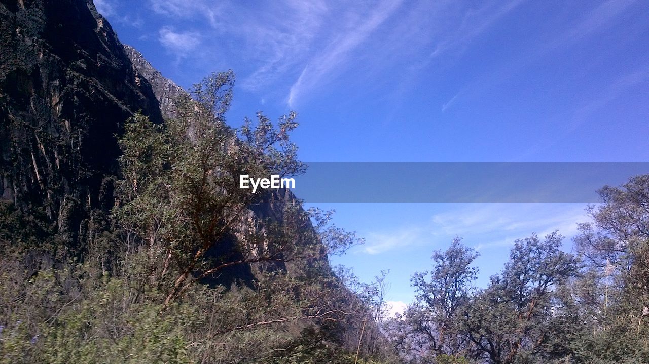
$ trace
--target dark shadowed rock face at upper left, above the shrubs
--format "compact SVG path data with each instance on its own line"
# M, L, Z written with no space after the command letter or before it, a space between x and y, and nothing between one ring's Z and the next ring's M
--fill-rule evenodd
M0 50L0 199L83 244L114 203L116 135L140 109L161 122L158 99L90 0L0 0Z

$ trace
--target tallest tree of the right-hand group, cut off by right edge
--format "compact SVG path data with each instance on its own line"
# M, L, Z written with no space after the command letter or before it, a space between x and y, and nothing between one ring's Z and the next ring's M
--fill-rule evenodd
M591 363L649 360L649 175L598 191L602 203L588 209L592 223L575 238L583 275L593 282L591 330L576 355Z

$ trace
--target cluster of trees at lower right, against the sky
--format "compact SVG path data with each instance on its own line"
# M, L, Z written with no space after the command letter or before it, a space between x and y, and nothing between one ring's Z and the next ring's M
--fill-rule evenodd
M649 362L649 176L599 193L575 253L559 233L517 240L482 290L476 252L459 239L435 252L415 302L385 324L402 362Z

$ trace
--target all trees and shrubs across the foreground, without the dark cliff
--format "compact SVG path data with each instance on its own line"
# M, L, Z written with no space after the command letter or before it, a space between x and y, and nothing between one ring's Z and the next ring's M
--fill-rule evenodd
M600 191L574 253L532 234L482 289L478 253L454 240L389 319L387 272L333 273L328 256L360 240L330 212L238 187L305 166L294 113L225 124L233 83L214 74L175 119L125 124L116 203L93 212L88 247L0 205L0 363L649 362L649 176Z

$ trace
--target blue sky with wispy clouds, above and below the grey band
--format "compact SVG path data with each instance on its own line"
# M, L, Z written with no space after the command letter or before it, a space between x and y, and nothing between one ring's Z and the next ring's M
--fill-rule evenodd
M297 111L304 161L649 160L646 1L95 4L183 87L233 69L233 126ZM341 262L364 279L391 269L395 301L455 235L491 274L514 238L570 235L585 207L330 205L367 238Z

